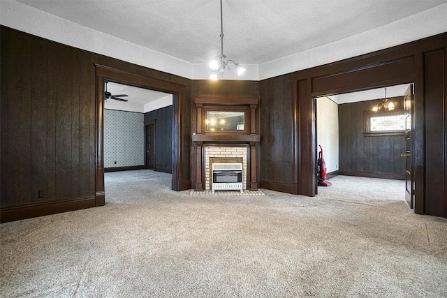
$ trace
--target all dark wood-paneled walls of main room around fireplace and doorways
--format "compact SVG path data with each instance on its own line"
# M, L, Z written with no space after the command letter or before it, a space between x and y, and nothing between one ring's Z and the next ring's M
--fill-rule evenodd
M1 27L1 221L97 204L94 64L184 86L181 117L174 124L179 137L173 140L181 147L181 162L173 163L180 163L182 186L191 185L191 97L261 95L261 187L311 196L316 192L313 98L414 82L415 210L447 217L446 47L444 33L262 82L210 82Z

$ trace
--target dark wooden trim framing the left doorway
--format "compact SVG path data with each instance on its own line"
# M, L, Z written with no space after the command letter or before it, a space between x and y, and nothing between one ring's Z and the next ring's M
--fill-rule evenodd
M156 91L163 91L169 94L173 94L173 182L172 189L174 191L183 191L182 186L185 185L183 181L183 102L184 93L186 87L180 84L172 82L166 82L163 80L157 80L152 77L145 77L137 75L135 73L128 73L123 70L111 68L109 66L103 66L95 64L96 66L96 116L97 116L97 128L96 128L96 174L97 180L103 181L103 92L104 92L104 79L107 78L112 82L118 82L122 84L130 84L135 87L149 88ZM102 160L100 161L99 159ZM102 177L102 178L101 178ZM186 183L187 184L187 183ZM96 191L104 191L103 184L96 184ZM102 188L101 188L102 186Z

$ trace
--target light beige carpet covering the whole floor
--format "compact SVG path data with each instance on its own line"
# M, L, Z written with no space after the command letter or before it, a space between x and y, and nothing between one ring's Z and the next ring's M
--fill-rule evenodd
M447 220L402 181L335 177L308 198L189 195L105 174L104 207L0 225L0 297L447 297Z

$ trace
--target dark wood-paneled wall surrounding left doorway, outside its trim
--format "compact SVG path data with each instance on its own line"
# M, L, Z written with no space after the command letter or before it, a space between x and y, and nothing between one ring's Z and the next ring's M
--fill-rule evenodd
M98 205L94 64L184 86L181 179L188 185L191 80L6 27L0 35L2 222Z

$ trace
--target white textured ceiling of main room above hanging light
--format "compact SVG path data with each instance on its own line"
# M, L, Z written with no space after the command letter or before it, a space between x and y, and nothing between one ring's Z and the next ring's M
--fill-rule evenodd
M220 54L219 0L17 1L193 64ZM242 64L263 64L446 2L223 0L223 50Z

